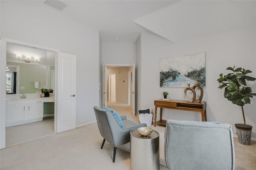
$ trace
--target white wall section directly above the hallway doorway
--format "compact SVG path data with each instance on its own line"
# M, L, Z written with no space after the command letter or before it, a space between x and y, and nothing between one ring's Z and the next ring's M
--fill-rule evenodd
M102 63L133 64L136 58L135 43L102 42Z

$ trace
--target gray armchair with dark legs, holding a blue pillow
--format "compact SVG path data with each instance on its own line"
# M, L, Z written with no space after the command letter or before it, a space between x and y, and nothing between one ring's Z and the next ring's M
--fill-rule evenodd
M124 124L124 128L122 128L110 111L100 109L100 107L97 106L94 106L93 109L96 115L100 134L104 138L101 149L107 140L108 143L114 147L113 162L115 162L116 147L130 142L130 131L139 127L146 127L146 123L138 124L134 121L128 120L126 116L120 116L122 123Z

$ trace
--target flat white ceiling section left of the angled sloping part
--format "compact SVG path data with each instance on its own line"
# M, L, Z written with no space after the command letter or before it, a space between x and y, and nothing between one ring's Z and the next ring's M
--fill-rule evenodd
M147 29L135 23L134 19L178 1L61 0L61 2L68 6L59 12L98 29L102 42L115 42L115 38L118 38L118 42L136 42L140 32ZM52 8L52 10L56 9Z

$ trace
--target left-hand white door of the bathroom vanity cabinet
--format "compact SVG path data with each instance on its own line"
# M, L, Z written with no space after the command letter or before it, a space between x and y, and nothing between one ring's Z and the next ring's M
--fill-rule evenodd
M14 123L26 120L26 106L8 106L6 111L6 123Z

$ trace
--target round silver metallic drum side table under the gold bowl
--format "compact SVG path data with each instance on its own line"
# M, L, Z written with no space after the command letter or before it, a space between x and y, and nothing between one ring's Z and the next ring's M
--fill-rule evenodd
M159 170L159 133L152 131L141 136L136 129L130 131L130 169Z

